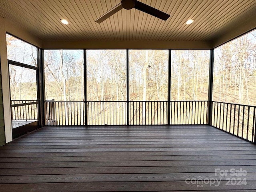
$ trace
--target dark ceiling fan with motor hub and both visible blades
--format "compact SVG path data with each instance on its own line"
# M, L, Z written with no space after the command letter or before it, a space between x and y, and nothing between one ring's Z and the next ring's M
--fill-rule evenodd
M109 18L110 16L115 14L116 12L120 11L122 8L127 9L127 10L135 8L135 9L138 9L140 11L143 11L147 14L150 14L152 16L155 16L155 17L160 18L165 21L170 17L170 15L168 15L154 7L151 7L142 2L139 2L137 0L121 0L121 2L119 4L117 4L112 9L110 9L108 12L106 12L105 14L100 16L98 19L95 20L95 22L101 23L102 21L106 20L107 18Z

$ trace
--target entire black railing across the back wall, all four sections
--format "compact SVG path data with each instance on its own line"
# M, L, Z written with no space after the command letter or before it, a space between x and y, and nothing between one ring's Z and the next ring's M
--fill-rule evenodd
M86 103L86 112L85 112ZM207 124L208 101L54 101L45 102L45 124L166 125ZM128 108L127 108L128 107ZM168 115L170 107L170 115ZM128 121L127 121L128 111ZM85 116L86 114L86 116Z

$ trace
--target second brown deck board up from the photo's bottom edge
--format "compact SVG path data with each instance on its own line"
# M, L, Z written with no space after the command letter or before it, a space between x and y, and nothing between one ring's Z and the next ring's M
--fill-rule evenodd
M0 176L1 184L11 183L66 183L66 182L159 182L182 181L184 178L196 178L197 173L154 173L154 174L64 174L64 175L29 175ZM201 174L202 179L215 178L227 180L230 176L215 176L214 173ZM256 174L248 172L247 180L256 180Z

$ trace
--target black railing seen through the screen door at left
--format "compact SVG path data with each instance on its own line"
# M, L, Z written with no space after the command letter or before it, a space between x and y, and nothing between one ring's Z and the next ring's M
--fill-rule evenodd
M11 100L12 120L38 120L37 100Z

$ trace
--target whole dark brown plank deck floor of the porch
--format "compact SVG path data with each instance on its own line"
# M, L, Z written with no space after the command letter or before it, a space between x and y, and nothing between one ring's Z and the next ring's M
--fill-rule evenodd
M191 190L255 192L256 145L210 126L106 126L44 127L0 147L1 192Z

